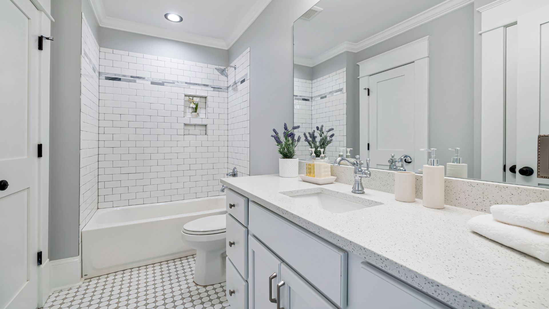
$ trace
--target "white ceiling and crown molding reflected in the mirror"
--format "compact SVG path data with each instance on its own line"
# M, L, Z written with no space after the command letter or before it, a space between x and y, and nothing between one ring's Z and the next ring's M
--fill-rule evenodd
M358 51L473 0L320 0L322 12L294 23L295 63L316 65ZM309 64L307 64L309 63Z

